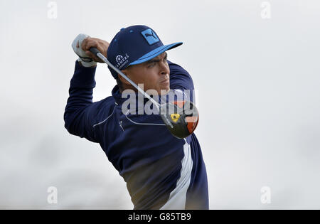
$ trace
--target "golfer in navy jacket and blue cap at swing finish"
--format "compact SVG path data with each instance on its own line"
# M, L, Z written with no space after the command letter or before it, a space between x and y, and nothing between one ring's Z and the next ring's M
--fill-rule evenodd
M201 147L194 133L184 139L174 137L161 116L150 113L154 108L149 101L141 100L137 90L110 66L117 85L111 96L92 102L95 70L102 60L90 48L97 48L145 91L159 98L176 92L192 102L191 76L167 59L166 51L181 44L164 45L152 28L140 25L122 28L110 43L80 34L72 44L79 58L70 81L65 128L100 144L127 183L134 209L208 209Z

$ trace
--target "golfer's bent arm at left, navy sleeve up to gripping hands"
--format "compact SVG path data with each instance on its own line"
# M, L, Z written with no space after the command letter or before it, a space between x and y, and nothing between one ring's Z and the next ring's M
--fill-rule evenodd
M63 118L65 128L70 134L85 137L91 142L98 142L93 125L100 119L103 100L92 102L95 87L96 59L87 49L98 48L107 54L109 43L83 34L73 41L73 50L79 56L75 62L75 73L70 81L69 97Z

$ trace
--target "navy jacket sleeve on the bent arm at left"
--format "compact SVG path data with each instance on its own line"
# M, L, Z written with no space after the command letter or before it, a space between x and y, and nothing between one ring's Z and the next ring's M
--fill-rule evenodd
M69 97L63 118L65 129L70 134L85 137L91 142L98 142L93 124L101 102L92 102L95 87L95 68L85 68L75 62L75 73L70 81Z

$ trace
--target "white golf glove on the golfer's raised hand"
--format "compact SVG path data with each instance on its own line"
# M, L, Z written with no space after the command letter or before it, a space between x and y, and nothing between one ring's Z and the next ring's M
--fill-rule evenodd
M82 50L81 45L82 45L82 41L85 38L88 38L90 36L87 36L86 34L80 33L74 40L73 40L73 51L75 51L75 53L79 56L78 61L81 62L81 64L84 67L92 67L97 65L97 62L95 62L95 60L93 60L92 58L90 58L86 53L85 50ZM79 43L79 48L77 48L77 43Z

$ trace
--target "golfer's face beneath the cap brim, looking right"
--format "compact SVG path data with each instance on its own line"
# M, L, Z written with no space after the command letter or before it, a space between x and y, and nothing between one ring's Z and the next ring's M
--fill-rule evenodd
M144 91L156 90L161 95L161 90L163 92L164 90L170 90L170 69L166 58L167 53L161 53L161 55L145 63L129 66L129 68L123 70L124 74L137 85L143 83ZM129 82L126 81L125 83Z

